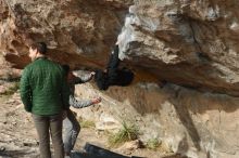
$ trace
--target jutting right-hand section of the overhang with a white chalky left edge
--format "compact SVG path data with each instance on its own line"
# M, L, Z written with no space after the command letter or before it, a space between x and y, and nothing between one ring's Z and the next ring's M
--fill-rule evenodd
M238 5L135 1L120 36L122 57L162 80L238 95Z

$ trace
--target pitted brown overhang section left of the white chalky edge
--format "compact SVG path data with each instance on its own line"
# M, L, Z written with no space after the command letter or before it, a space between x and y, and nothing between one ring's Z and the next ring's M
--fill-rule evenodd
M23 68L29 62L30 42L46 41L54 61L103 67L129 4L126 0L0 0L0 52Z

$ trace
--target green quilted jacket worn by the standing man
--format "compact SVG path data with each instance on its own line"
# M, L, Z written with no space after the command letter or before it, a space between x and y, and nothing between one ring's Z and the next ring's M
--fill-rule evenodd
M21 78L21 98L26 111L56 115L68 108L68 88L62 67L45 57L27 65Z

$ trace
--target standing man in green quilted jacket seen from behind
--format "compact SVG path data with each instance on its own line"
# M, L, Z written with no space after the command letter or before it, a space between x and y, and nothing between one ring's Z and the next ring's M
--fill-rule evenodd
M51 135L54 158L64 158L62 114L68 109L68 89L62 67L49 61L46 52L43 42L30 45L28 55L33 62L24 68L21 78L21 98L26 111L33 114L40 157L51 158Z

